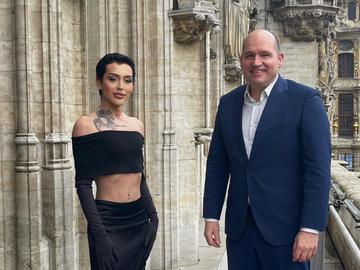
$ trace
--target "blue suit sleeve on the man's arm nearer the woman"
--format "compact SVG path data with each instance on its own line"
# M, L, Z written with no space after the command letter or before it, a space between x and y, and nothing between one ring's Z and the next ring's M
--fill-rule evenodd
M221 131L222 106L222 100L220 100L206 164L203 209L204 218L218 220L220 219L230 172L228 154Z

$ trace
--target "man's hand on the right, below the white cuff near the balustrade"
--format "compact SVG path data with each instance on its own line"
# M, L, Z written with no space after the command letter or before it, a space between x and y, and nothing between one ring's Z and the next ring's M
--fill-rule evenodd
M316 254L318 241L318 234L300 231L293 246L293 261L306 262L310 260Z

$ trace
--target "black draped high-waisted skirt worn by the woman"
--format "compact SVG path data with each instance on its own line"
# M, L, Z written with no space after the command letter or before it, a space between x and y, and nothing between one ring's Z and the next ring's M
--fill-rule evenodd
M117 270L143 270L155 236L141 198L129 203L95 200L105 230L119 254ZM155 231L156 233L156 231ZM91 270L98 270L96 242L88 229Z

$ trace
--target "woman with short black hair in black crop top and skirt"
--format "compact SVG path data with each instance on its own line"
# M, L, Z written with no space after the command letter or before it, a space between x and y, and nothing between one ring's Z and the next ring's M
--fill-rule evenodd
M100 59L101 103L73 128L75 186L88 222L92 270L144 269L155 241L158 218L143 174L144 127L123 111L134 79L135 64L128 56Z

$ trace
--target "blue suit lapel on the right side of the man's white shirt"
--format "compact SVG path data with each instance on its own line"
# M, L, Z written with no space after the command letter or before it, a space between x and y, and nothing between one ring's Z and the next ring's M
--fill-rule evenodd
M261 145L261 141L267 136L266 129L268 129L274 119L278 117L278 112L281 109L284 101L287 99L287 81L280 77L271 90L268 101L265 105L264 111L260 117L258 127L256 129L253 146L251 148L250 159L256 155L256 150Z

